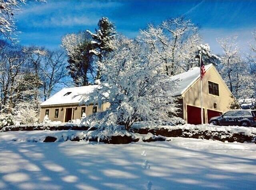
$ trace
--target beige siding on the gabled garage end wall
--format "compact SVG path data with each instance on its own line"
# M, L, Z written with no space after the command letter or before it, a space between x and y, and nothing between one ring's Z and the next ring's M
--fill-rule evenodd
M208 80L214 83L219 84L219 94L220 96L214 96L208 94ZM207 109L216 110L218 112L226 112L231 109L238 109L239 105L233 98L231 92L228 90L226 84L218 74L218 71L212 66L206 72L202 80L202 95L203 95L203 107L206 109L207 118ZM184 119L186 120L186 105L198 106L200 107L200 78L192 84L190 88L182 95L184 96ZM214 103L217 104L217 107L214 108Z

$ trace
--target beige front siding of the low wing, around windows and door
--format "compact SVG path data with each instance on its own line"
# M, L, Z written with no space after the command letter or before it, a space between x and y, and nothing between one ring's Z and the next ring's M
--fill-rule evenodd
M106 103L105 103L106 104ZM98 112L102 112L106 110L106 108L109 106L108 104L103 104L101 108L98 107ZM73 108L74 112L74 119L81 119L81 108L86 107L86 116L89 116L92 114L92 105L89 106L78 106L78 104L70 104L70 105L52 105L52 106L44 106L40 109L40 119L39 122L42 122L44 119L45 110L49 109L49 119L52 121L62 121L64 122L66 108ZM59 116L58 118L54 118L54 112L55 109L59 109Z

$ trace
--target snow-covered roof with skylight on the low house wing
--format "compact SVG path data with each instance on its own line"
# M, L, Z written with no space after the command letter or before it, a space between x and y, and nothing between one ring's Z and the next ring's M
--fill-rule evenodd
M82 100L82 95L89 94L98 85L80 86L72 88L63 88L48 100L44 101L40 106L50 106L58 104L77 104ZM71 93L70 93L71 92Z

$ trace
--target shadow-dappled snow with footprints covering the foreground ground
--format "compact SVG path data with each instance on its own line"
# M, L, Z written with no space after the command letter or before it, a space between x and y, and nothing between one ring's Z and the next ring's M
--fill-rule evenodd
M256 145L188 138L110 145L12 141L73 131L0 133L1 190L250 190Z

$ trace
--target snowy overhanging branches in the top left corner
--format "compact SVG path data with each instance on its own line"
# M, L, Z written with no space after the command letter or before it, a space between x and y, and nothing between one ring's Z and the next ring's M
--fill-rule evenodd
M12 35L17 33L15 14L31 0L0 0L0 34L5 38L14 40ZM34 0L46 2L45 0Z

